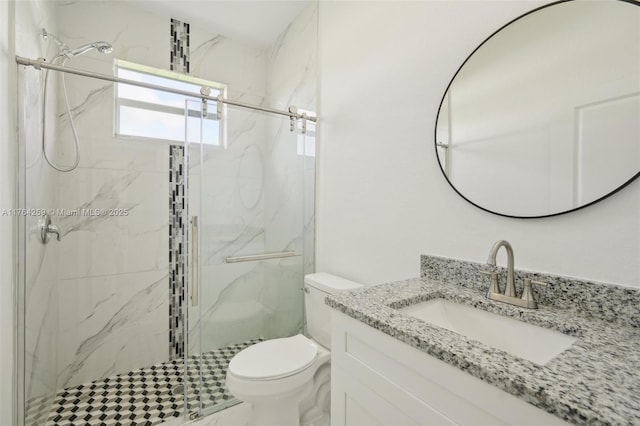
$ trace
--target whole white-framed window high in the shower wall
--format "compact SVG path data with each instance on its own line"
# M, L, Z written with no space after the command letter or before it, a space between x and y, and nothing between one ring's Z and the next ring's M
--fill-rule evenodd
M226 85L122 60L116 60L115 73L119 78L194 94L190 97L117 83L115 133L118 137L182 142L185 135L188 135L191 143L226 146L225 114L218 120L215 103L213 108L210 102L208 110L201 110L193 109L194 105L202 106L201 102L188 102L188 111L185 103L187 99L199 100L200 89L203 86L211 89L211 97L225 96ZM188 118L185 120L187 115Z

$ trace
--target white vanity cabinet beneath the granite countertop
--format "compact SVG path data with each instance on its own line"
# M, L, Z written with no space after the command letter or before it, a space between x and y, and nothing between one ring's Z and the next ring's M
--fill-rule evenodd
M338 311L331 326L333 426L568 424Z

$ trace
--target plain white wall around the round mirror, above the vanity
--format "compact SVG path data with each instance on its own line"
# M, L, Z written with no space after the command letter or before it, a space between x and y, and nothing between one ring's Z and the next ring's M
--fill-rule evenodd
M545 2L320 3L317 270L375 284L419 274L419 255L640 287L640 182L558 217L518 220L465 202L441 175L442 94L495 29Z

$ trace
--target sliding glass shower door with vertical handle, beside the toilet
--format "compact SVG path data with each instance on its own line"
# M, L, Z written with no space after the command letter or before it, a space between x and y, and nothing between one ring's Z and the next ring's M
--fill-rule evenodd
M197 101L187 109L202 106L185 146L198 281L189 370L198 372L193 400L206 414L236 402L225 377L237 352L302 332L305 144L286 116L231 106L217 116L215 103Z

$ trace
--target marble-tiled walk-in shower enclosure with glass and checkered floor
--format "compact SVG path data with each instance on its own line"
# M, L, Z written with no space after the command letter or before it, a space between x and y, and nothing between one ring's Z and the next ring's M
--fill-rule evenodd
M258 47L154 16L144 31L190 31L192 68L222 81L219 94L230 101L201 96L198 87L191 96L171 94L174 103L154 111L173 116L154 118L141 111L143 101L123 95L123 83L100 76L117 77L127 61L166 69L144 56L164 44L134 55L140 35L122 32L129 22L110 37L82 33L109 16L151 19L131 3L108 3L64 2L48 15L46 2L17 7L44 8L65 29L74 15L96 16L73 23L77 32L56 31L55 22L47 29L79 46L107 40L115 57L90 52L65 64L87 73L65 74L71 114L61 72L50 71L43 108L43 70L18 68L20 424L181 424L236 402L225 387L235 353L304 327L315 128L289 107L315 110L315 5ZM18 54L51 57L38 51L41 34L34 28ZM220 63L224 55L241 60ZM255 66L247 71L243 58ZM184 70L164 76L176 71ZM244 83L249 72L256 77ZM145 102L164 99L162 90L138 89ZM126 108L134 113L128 134ZM71 168L70 115L79 161L63 172L42 155L42 136L51 162ZM178 122L182 130L173 128ZM145 129L155 136L136 133ZM173 130L180 140L170 139Z

